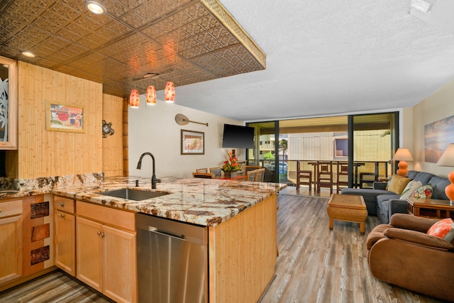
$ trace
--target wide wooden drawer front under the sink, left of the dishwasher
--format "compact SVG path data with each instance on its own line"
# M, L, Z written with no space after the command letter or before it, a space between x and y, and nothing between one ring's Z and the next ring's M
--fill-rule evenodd
M77 216L135 231L135 213L77 201Z

